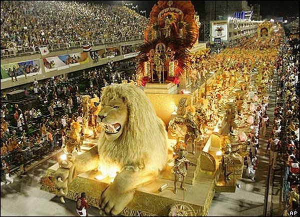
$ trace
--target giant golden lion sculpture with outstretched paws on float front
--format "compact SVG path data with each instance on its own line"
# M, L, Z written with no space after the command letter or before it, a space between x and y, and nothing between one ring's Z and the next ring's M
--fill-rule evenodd
M102 192L99 207L116 215L133 198L135 188L154 180L167 162L167 132L143 91L117 84L103 88L98 121L98 145L59 162L55 187L62 202L67 185L82 172L118 168L113 182ZM110 169L110 170L109 170Z

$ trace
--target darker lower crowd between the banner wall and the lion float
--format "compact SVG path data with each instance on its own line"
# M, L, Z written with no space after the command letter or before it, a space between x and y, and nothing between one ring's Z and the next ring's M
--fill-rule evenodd
M37 107L21 110L5 103L1 92L1 160L20 174L33 159L59 149L72 120L81 113L82 95L100 97L101 88L112 83L131 81L131 74L122 68L135 66L132 60L99 66L71 79L52 77L43 83L34 80L24 95L36 95ZM88 85L85 85L88 84ZM3 102L4 101L4 102ZM3 170L2 170L3 171ZM9 170L5 170L9 171ZM6 179L7 183L9 181Z

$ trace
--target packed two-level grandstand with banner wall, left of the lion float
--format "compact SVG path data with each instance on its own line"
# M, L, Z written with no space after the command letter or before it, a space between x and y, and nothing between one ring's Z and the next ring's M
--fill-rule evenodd
M60 150L68 127L61 121L71 121L82 95L99 96L104 85L131 80L148 20L124 6L66 1L4 1L0 18L1 159L17 172ZM84 44L92 51L84 52Z

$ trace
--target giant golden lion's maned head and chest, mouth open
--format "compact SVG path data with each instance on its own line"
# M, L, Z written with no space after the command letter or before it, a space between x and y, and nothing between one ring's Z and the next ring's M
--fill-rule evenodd
M133 85L115 84L103 88L100 102L100 161L120 168L162 169L167 133L144 92Z

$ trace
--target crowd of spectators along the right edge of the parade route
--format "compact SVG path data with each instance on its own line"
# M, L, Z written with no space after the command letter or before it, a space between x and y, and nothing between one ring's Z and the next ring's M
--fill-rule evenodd
M290 211L299 213L299 41L282 48L278 77L280 85L277 90L275 110L277 127L274 136L279 133L281 155L284 163L283 200L285 210L283 216L291 216Z

